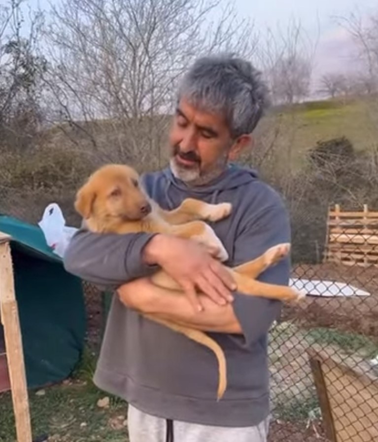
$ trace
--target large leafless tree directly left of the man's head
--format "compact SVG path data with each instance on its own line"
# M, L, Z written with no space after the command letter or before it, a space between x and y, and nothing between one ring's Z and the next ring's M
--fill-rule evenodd
M63 0L54 6L45 40L56 118L106 159L159 166L167 114L188 64L212 50L253 51L252 25L238 21L230 6L206 25L220 8L220 0Z

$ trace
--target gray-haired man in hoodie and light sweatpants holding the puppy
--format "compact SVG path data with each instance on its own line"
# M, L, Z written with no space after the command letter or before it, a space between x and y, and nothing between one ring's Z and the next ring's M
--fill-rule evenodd
M256 174L229 165L252 142L266 107L260 74L233 56L197 60L184 76L170 130L170 167L146 174L146 192L173 209L186 197L232 202L212 224L228 265L290 241L277 193ZM80 230L66 269L114 286L94 381L129 403L131 442L266 442L269 422L268 331L280 303L233 291L219 262L194 241L146 233L99 235ZM185 289L175 296L151 285L164 268ZM287 285L289 259L260 280ZM198 298L195 289L203 292ZM193 308L196 307L196 308ZM217 362L205 347L138 314L149 312L208 332L224 349L228 388L217 402Z

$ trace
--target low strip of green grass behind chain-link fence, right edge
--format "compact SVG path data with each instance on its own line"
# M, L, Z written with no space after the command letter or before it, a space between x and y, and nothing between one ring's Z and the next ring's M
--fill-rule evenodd
M374 358L378 354L378 342L357 333L340 332L320 327L310 329L305 336L317 344L338 346L345 353L359 353L368 359Z

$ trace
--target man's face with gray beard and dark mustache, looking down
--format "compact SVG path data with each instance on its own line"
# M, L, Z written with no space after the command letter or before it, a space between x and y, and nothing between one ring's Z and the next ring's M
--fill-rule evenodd
M246 138L233 140L223 116L200 111L182 99L169 137L172 172L187 183L206 184L236 157Z

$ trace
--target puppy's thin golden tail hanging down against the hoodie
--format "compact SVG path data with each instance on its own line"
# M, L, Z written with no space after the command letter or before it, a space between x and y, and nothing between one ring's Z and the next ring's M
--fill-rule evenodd
M205 345L205 347L209 348L213 351L218 361L218 391L217 391L217 400L219 401L226 391L227 387L227 365L226 365L226 357L220 345L211 339L206 333L201 332L200 330L190 329L188 327L184 327L171 321L166 321L164 319L157 319L153 316L145 315L149 317L153 321L159 322L170 329L185 334L188 338L193 341L198 342L199 344Z

